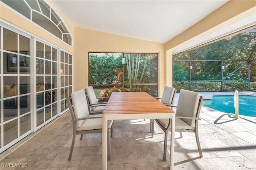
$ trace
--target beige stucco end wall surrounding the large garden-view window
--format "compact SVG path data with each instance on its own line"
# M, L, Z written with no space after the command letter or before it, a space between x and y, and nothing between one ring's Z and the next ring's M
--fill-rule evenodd
M139 40L78 27L75 27L74 40L74 91L84 89L88 86L89 52L159 53L159 87L160 89L164 87L163 43Z

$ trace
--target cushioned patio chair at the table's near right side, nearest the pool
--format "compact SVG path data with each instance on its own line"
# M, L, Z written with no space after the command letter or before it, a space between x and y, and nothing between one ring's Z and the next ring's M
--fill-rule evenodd
M200 142L198 138L198 121L199 113L203 101L202 96L194 91L188 91L181 89L178 105L175 116L175 132L180 132L182 138L182 132L194 132L196 136L196 143L200 157L203 157ZM170 131L171 120L170 119L155 119L156 123L162 130L164 130L164 161L166 160L167 150L167 134ZM173 134L174 135L174 134ZM154 123L152 124L152 137L154 136Z

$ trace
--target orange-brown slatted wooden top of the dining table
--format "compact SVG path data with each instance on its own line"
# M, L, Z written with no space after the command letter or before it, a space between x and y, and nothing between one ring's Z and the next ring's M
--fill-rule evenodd
M113 92L103 113L174 113L174 111L146 92Z

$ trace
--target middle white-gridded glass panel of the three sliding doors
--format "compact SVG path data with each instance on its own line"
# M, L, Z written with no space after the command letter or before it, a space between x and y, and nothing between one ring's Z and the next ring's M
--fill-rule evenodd
M57 117L57 49L36 41L36 127Z

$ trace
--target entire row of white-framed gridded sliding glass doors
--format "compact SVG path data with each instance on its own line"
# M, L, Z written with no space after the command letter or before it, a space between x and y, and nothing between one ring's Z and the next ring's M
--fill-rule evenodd
M0 27L0 152L68 111L73 56L7 24Z

